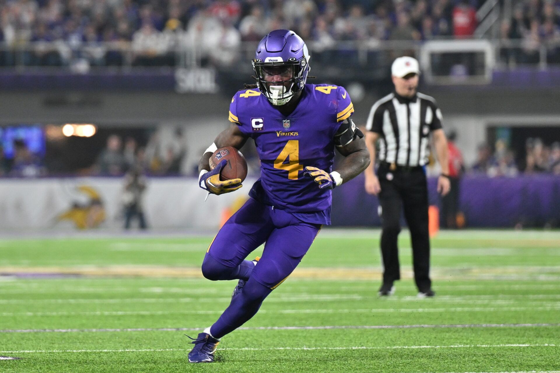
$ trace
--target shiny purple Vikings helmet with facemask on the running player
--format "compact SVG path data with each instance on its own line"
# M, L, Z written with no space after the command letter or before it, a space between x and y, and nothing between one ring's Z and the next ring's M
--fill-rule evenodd
M295 32L269 32L256 47L253 60L260 92L273 105L284 105L290 101L305 86L307 74L311 70L310 58L307 46ZM267 77L269 80L266 80Z

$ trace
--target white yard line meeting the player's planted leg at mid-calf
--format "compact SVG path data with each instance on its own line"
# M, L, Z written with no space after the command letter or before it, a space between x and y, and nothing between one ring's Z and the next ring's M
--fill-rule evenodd
M560 303L545 304L540 307L463 307L463 308L363 308L363 309L288 309L288 310L259 310L259 313L270 314L335 314L335 313L443 313L443 312L494 312L494 311L556 311L560 310ZM44 317L44 316L132 316L132 315L173 315L222 314L221 310L176 310L176 311L86 311L86 312L2 312L3 317Z

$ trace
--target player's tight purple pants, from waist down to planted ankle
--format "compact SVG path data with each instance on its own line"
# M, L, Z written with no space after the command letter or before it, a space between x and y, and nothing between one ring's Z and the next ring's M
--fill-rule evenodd
M211 327L221 338L253 317L268 294L297 267L321 229L284 210L251 198L222 226L210 244L202 272L211 280L246 280L242 291ZM253 267L244 261L264 242L263 255ZM248 280L247 280L248 279Z

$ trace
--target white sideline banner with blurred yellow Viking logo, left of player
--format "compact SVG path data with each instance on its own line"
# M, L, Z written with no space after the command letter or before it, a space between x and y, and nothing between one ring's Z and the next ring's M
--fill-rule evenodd
M217 228L226 209L248 198L253 182L205 202L195 178L148 178L143 196L148 227ZM118 228L124 226L123 191L124 178L0 180L0 230Z

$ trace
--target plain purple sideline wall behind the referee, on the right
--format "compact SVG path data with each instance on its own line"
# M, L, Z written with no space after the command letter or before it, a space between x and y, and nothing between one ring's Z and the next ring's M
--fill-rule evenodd
M436 179L428 179L431 205L441 201ZM363 188L363 174L333 191L332 223L335 226L380 226L377 197ZM466 176L460 185L460 210L468 227L508 227L517 223L542 227L560 225L560 177L520 176L487 178ZM403 220L404 225L404 220Z

